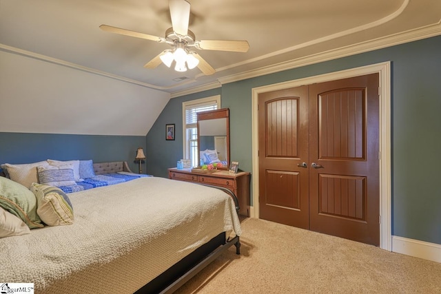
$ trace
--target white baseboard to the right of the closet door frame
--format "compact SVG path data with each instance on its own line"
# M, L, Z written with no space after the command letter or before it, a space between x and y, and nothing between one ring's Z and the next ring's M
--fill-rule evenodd
M441 244L392 236L392 252L441 263Z

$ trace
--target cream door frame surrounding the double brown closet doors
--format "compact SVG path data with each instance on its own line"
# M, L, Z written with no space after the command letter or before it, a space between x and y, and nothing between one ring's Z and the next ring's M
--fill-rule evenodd
M342 78L380 74L380 248L391 251L391 63L377 63L350 70L300 78L252 89L252 200L250 216L259 218L259 162L258 162L258 94L276 90L335 81Z

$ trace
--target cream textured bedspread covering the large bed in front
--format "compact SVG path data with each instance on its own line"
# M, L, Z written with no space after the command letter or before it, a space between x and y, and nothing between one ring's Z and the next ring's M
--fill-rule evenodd
M37 293L116 293L123 283L117 292L133 293L219 233L241 233L226 193L188 182L139 178L69 197L74 224L0 239L0 282L33 282Z

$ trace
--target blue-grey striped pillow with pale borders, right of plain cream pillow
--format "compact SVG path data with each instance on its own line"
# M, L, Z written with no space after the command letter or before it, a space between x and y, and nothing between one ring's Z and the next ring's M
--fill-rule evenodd
M46 165L37 169L40 184L58 187L76 185L73 165Z

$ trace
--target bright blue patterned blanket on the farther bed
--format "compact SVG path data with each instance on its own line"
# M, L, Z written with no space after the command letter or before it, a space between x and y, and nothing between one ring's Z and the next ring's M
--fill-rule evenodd
M144 174L103 174L93 178L86 178L83 182L76 182L76 185L59 187L64 193L73 193L88 190L96 187L104 187L119 184L120 182L128 182L136 178L148 177Z

